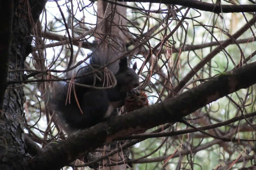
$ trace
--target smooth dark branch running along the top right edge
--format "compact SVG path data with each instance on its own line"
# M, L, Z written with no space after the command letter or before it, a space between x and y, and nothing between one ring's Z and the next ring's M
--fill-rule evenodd
M216 5L211 3L206 3L197 0L118 0L121 2L150 2L159 4L170 4L170 5L181 5L187 6L189 8L194 8L201 11L209 11L214 13L229 13L229 12L255 12L256 5Z

